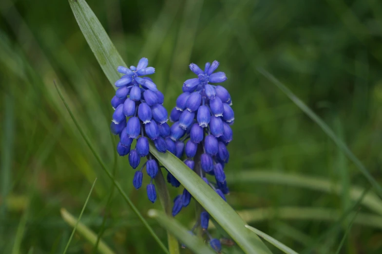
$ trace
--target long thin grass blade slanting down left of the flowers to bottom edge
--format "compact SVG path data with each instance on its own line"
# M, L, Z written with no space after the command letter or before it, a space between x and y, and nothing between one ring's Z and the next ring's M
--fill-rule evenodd
M126 195L126 193L122 190L122 187L119 185L118 182L115 181L114 177L112 176L112 174L109 172L109 170L106 168L106 165L102 162L101 160L101 157L98 155L98 153L96 152L96 149L93 147L93 145L90 143L90 140L88 139L88 137L85 135L85 133L83 132L82 128L79 126L76 118L74 117L72 111L69 109L69 106L68 104L65 102L65 99L64 97L62 96L61 92L59 91L56 83L55 83L55 86L56 86L56 89L57 89L57 92L62 100L62 102L64 103L66 109L68 110L69 114L70 114L70 117L72 118L73 122L75 123L79 133L81 134L82 138L85 140L86 144L88 145L89 149L92 151L93 155L96 157L96 160L98 161L98 163L101 165L101 168L103 169L103 171L105 171L105 173L107 174L107 176L113 181L115 187L117 188L117 190L119 191L119 193L122 195L123 199L126 201L126 203L130 206L130 208L134 211L134 213L136 214L136 216L138 216L138 218L142 221L143 225L145 225L145 227L149 230L150 234L154 237L155 241L159 244L159 246L162 248L162 250L167 253L167 254L170 254L169 251L167 250L166 246L164 246L164 244L160 241L159 237L155 234L155 232L153 231L153 229L150 227L149 223L146 221L145 218L143 218L143 216L139 213L138 209L135 207L134 203L129 199L129 197Z

